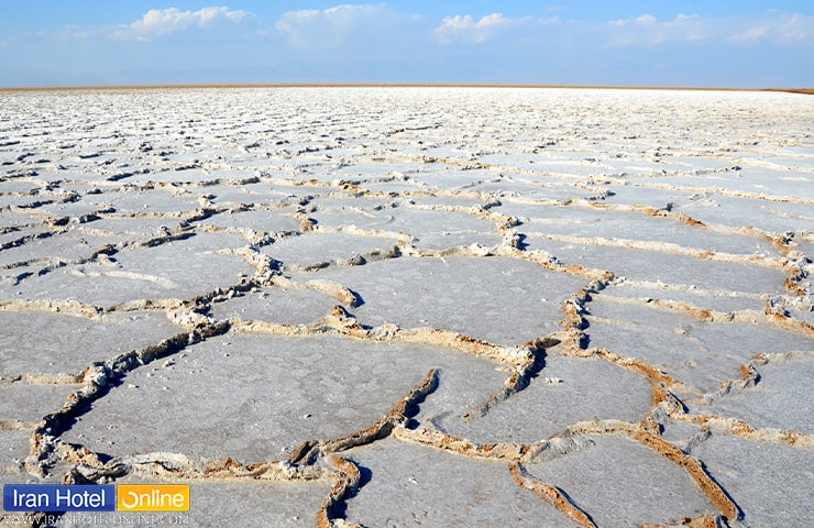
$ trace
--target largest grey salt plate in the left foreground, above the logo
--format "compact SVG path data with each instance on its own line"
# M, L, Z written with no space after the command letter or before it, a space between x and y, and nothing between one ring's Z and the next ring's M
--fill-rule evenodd
M433 346L228 333L131 372L63 438L102 453L286 459L366 429L430 369L465 373L472 405L501 387L496 365Z

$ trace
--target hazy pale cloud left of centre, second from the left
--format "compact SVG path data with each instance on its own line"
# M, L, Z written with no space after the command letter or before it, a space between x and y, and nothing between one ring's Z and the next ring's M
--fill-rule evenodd
M288 11L275 24L288 44L300 51L337 50L365 41L393 22L385 4L337 6L326 10Z

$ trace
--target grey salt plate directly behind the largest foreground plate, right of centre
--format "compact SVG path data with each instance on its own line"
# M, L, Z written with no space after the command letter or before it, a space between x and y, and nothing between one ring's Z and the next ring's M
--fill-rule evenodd
M399 257L314 274L358 293L364 324L440 328L499 344L560 330L562 304L586 279L505 257Z

